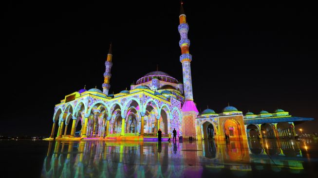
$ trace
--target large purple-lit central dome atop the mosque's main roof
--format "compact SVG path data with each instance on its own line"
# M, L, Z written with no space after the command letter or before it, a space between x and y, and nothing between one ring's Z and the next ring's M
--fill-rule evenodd
M166 72L163 72L163 71L151 71L151 72L147 73L146 75L144 75L143 77L141 77L140 79L138 79L137 80L137 85L149 82L149 81L152 80L153 77L159 79L160 81L165 81L165 82L170 82L170 83L175 83L175 84L178 83L177 79L171 77Z

